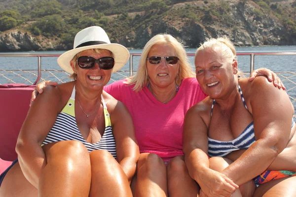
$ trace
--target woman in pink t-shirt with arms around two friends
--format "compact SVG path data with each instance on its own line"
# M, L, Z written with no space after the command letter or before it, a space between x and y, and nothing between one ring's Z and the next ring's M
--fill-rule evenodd
M277 78L270 70L261 71ZM38 92L45 84L37 86ZM169 34L155 35L143 49L137 73L104 90L127 106L135 125L141 154L131 185L134 195L196 196L199 187L188 174L182 151L183 121L186 111L206 95L184 46Z

